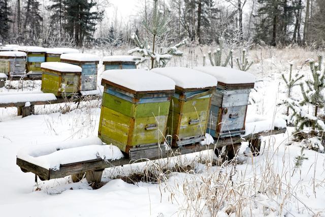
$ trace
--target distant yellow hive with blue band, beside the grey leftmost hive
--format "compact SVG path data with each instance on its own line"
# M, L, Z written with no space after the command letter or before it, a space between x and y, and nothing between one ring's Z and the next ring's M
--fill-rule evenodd
M22 51L27 54L26 72L29 73L29 78L42 78L41 63L44 63L45 61L45 48L26 46L19 47L18 51Z

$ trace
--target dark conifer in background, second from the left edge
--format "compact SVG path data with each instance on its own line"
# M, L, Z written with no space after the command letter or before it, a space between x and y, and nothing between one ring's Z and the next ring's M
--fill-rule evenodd
M41 36L41 21L43 18L40 15L40 3L37 0L27 0L24 10L26 43L30 43L30 40L35 43Z

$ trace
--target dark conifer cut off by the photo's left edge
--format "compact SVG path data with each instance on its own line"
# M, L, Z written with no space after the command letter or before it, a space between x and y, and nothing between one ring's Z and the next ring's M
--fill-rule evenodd
M8 2L8 0L0 0L0 37L3 41L7 41L9 38L9 23L12 22L10 19L12 11Z

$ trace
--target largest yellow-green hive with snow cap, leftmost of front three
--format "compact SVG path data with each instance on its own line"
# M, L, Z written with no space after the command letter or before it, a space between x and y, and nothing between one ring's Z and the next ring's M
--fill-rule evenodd
M175 82L140 69L104 72L99 137L130 159L165 154L167 117Z

